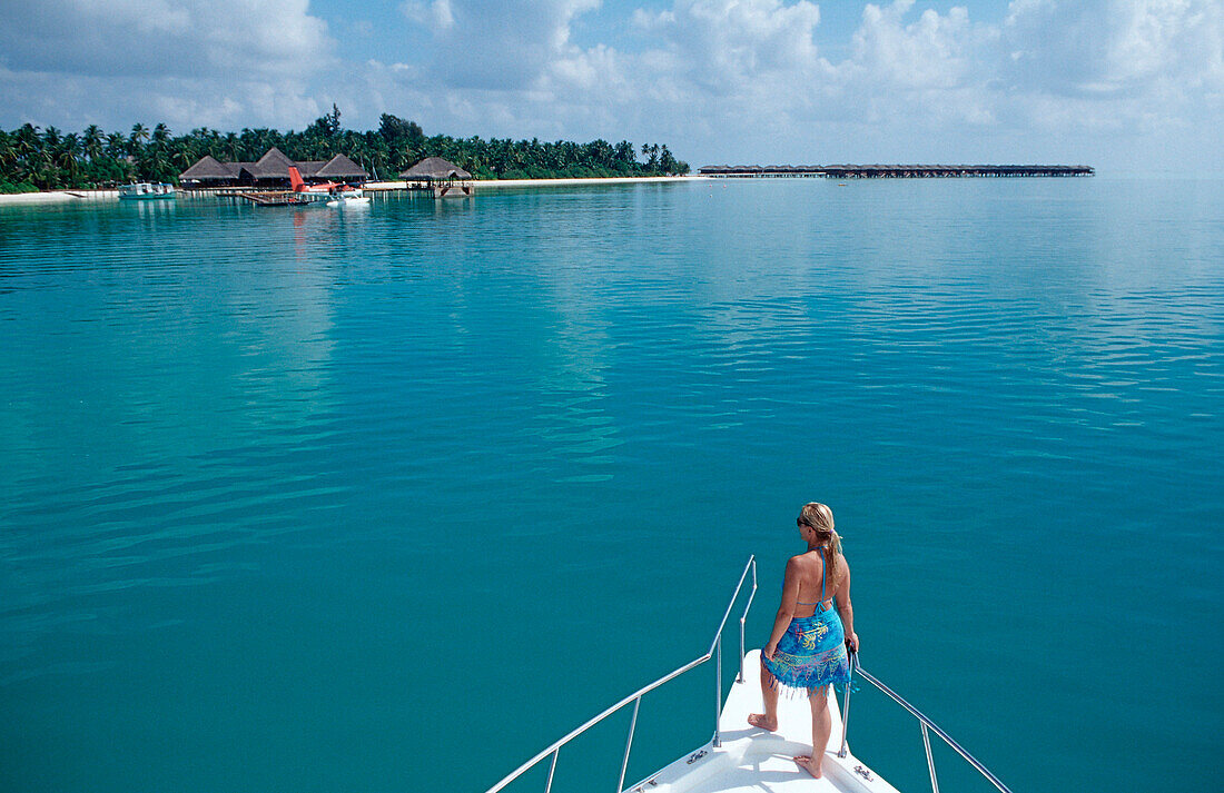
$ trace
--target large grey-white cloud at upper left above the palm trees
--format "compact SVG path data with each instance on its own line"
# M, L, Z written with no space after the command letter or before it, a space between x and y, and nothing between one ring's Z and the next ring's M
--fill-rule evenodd
M0 4L0 104L64 126L304 122L334 50L307 0Z

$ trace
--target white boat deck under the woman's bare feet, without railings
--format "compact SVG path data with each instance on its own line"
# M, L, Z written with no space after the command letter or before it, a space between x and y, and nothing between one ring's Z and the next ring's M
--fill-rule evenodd
M744 658L744 682L731 687L718 720L722 746L703 746L662 771L628 788L630 793L896 793L896 788L862 760L841 748L842 721L831 695L832 732L823 764L824 778L814 780L791 759L812 749L812 710L804 699L778 701L778 727L765 732L748 724L749 713L761 711L760 650Z

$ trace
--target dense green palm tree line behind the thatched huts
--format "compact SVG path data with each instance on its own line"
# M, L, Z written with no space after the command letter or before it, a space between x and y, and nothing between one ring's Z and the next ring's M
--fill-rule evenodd
M82 132L31 124L0 130L0 192L110 187L133 181L177 182L180 173L209 154L222 162L251 162L272 147L293 160L353 158L371 176L395 179L426 157L442 157L477 179L557 179L579 176L662 176L689 173L657 143L635 148L629 141L541 142L426 136L415 121L383 114L377 130L340 126L340 111L316 119L301 132L244 128L220 132L198 127L175 136L165 124L152 130L105 132L92 124Z

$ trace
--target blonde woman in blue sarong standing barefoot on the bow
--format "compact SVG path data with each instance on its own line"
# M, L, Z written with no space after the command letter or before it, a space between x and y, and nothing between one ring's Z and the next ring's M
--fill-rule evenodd
M805 504L796 523L808 551L786 563L782 605L769 644L761 650L765 712L753 713L748 723L770 732L777 729L778 688L805 691L812 705L813 750L794 761L820 778L820 761L832 729L829 684L849 682L846 647L857 652L858 636L849 605L849 567L841 552L841 537L834 531L832 510L824 504Z

